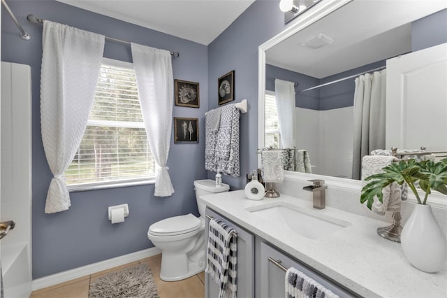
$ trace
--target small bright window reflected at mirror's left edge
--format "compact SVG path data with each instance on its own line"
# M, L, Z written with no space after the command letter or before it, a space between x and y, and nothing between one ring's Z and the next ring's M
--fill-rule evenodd
M280 148L277 99L274 92L265 90L265 147Z

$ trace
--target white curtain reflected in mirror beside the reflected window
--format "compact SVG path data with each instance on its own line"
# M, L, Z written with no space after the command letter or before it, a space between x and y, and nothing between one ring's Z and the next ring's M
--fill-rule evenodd
M277 101L281 148L295 146L295 83L274 80L274 96Z

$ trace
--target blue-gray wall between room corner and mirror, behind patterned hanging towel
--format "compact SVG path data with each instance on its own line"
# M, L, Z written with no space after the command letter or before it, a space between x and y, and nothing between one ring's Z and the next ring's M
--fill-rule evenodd
M249 111L241 115L241 176L223 176L233 189L245 187L245 173L258 168L258 47L286 26L278 1L256 0L244 13L208 45L208 101L217 104L217 78L235 70L235 100L247 99ZM208 177L214 179L209 171Z

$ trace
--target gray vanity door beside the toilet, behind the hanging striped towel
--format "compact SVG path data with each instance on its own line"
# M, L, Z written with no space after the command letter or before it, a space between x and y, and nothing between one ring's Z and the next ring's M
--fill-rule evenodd
M223 216L207 208L205 239L208 239L210 218L219 218L237 232L237 297L254 297L254 236ZM208 218L210 216L210 218ZM206 254L206 253L205 253ZM219 285L205 274L205 297L219 297Z

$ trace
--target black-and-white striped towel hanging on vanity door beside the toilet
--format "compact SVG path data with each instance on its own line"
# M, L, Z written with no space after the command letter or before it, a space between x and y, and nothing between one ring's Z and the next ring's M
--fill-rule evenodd
M217 285L219 298L236 298L237 236L225 222L210 220L207 248L207 269Z

